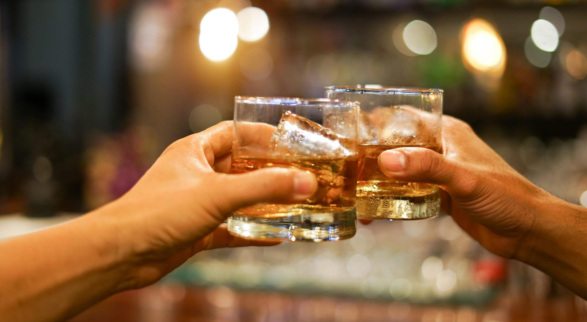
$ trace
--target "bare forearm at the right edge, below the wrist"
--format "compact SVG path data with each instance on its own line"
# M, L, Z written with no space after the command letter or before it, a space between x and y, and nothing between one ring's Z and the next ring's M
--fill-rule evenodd
M554 196L543 200L516 257L587 298L587 208Z

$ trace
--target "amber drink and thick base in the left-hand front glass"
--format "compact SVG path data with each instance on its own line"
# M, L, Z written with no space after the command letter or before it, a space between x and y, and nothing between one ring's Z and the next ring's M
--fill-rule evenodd
M344 239L355 234L356 156L350 159L232 159L232 173L264 167L311 172L318 178L318 190L310 199L295 204L258 204L237 210L228 220L232 234L254 239L312 242Z

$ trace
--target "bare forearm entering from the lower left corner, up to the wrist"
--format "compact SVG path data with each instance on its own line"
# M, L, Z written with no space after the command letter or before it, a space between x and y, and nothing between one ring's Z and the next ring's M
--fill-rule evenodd
M116 223L90 213L0 242L0 316L57 321L128 287Z

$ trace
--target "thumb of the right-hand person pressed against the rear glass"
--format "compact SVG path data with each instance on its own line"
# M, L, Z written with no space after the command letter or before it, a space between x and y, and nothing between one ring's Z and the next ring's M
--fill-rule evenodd
M379 168L395 180L426 182L451 187L459 173L453 162L423 147L402 147L382 152Z

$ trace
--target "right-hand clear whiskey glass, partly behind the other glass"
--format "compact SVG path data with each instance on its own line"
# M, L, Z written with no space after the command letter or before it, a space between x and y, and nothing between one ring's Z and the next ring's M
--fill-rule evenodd
M360 103L357 217L410 220L437 216L436 185L398 182L383 175L379 154L396 147L441 150L443 90L417 88L326 88L329 99Z

